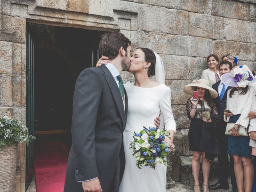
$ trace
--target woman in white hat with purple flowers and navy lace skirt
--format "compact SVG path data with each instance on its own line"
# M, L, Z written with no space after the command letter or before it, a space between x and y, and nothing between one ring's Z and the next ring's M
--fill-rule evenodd
M232 70L231 73L222 75L222 81L226 86L233 88L228 90L227 109L224 112L224 120L235 123L228 135L227 153L234 158L234 171L238 191L251 192L253 183L252 148L249 146L249 136L239 136L239 129L248 128L250 119L248 113L251 111L252 98L256 79L250 69L244 65ZM244 190L245 179L245 190Z

